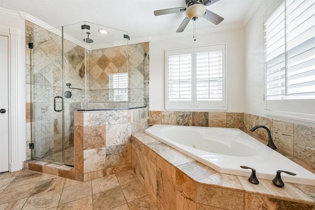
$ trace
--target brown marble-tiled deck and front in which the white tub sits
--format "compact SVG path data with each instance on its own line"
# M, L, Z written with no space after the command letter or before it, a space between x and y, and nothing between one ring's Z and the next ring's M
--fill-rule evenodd
M160 210L315 210L315 186L221 174L143 131L131 136L132 168Z

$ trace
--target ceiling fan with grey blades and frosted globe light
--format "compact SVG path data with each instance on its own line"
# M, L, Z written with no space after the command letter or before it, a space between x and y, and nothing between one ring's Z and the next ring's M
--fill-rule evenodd
M154 11L154 15L165 15L177 12L185 12L186 17L184 18L182 24L176 30L176 32L183 32L188 25L189 21L196 21L200 17L207 19L208 21L218 25L222 22L223 18L208 9L206 6L209 6L219 0L186 0L186 7L177 7L177 8L169 8L169 9L161 9Z

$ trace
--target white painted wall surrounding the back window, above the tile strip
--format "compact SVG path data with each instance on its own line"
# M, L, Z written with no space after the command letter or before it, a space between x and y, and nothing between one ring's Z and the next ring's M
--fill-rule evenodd
M244 29L150 42L150 110L165 111L165 50L226 44L227 112L244 112Z

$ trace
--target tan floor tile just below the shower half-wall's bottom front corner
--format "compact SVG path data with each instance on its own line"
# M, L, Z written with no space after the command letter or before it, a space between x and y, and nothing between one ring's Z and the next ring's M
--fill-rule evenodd
M80 182L75 185L63 187L59 205L69 203L92 195L91 181Z

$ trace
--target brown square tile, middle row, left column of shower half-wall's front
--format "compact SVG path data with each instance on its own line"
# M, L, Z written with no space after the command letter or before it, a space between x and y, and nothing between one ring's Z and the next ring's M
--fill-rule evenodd
M84 126L83 150L106 147L106 129L105 125Z

